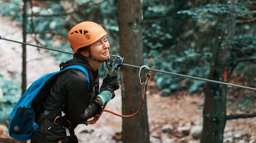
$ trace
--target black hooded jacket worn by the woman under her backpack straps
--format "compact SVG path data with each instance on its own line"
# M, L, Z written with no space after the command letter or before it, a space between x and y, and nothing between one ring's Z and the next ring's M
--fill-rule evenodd
M78 124L100 113L101 103L96 96L99 92L99 74L94 71L86 61L79 55L60 65L61 70L71 65L80 65L87 69L90 78L90 88L88 91L88 79L86 75L78 69L70 69L62 73L49 92L49 96L43 103L44 110L51 112L64 106L64 113L71 122L70 132ZM37 120L44 117L42 113ZM58 141L66 136L66 130L60 125L54 125L53 121L47 119L35 131L37 136L47 138L51 141Z

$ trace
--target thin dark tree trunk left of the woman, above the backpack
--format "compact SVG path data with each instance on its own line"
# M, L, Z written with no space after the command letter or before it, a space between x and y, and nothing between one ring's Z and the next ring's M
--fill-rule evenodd
M26 38L27 38L27 0L24 0L24 5L23 5L23 42L26 43ZM26 62L26 45L22 45L22 94L26 91L27 89L27 62Z

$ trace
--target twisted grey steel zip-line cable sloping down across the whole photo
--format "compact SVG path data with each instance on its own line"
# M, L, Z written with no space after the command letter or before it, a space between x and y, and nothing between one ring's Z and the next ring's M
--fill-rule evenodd
M62 51L62 50L57 50L57 49L53 49L53 48L47 48L47 47L43 47L43 46L38 46L38 45L33 45L33 44L29 44L29 43L24 43L24 42L19 42L19 41L15 41L15 40L2 38L1 35L0 35L0 39L10 41L10 42L20 43L20 44L25 44L25 45L29 45L29 46L34 46L34 47L38 47L38 48L43 48L43 49L46 49L46 50L52 50L52 51L56 51L56 52L61 52L61 53L73 55L73 53ZM122 64L122 66L128 66L128 67L133 67L133 68L137 68L137 69L140 68L140 66L134 66L134 65L129 65L129 64ZM238 88L243 88L243 89L249 89L249 90L256 91L256 88L242 86L242 85L236 85L236 84L232 84L232 83L214 81L214 80L209 80L209 79L204 79L204 78L199 78L199 77L192 77L192 76L188 76L188 75L183 75L183 74L178 74L178 73L171 73L171 72L166 72L166 71L162 71L162 70L155 70L155 69L150 69L150 68L143 68L143 70L151 70L151 71L158 72L158 73L165 73L165 74L170 74L170 75L179 76L179 77L186 77L186 78L191 78L191 79L195 79L195 80L207 81L207 82L211 82L211 83L216 83L216 84L221 84L221 85L228 85L228 86L233 86L233 87L238 87Z

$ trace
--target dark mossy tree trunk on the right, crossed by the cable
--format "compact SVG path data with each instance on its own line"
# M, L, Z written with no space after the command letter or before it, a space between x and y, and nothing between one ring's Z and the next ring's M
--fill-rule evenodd
M216 81L229 81L224 71L232 69L232 46L221 47L221 44L230 44L230 37L234 35L235 18L224 15L219 16L215 31L215 44L213 45L213 58L208 79ZM232 70L233 71L233 70ZM226 72L228 73L228 72ZM223 143L223 133L226 125L226 93L227 86L206 83L204 88L205 99L203 108L203 131L201 143Z

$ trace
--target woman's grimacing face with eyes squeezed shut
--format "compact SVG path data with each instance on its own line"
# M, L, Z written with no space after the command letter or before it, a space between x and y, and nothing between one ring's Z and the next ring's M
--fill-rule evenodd
M92 43L90 46L92 57L105 61L109 58L110 45L105 36Z

